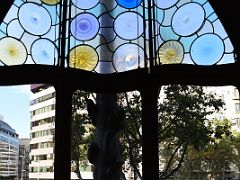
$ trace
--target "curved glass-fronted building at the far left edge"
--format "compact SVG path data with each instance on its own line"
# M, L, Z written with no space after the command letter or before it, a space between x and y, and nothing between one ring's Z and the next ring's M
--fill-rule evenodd
M0 116L0 179L17 178L18 151L18 134Z

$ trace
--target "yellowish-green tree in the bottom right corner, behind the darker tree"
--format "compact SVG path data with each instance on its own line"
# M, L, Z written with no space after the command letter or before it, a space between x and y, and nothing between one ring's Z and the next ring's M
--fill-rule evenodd
M224 173L235 164L235 159L239 159L234 147L236 137L232 133L230 121L215 119L209 123L209 128L213 131L212 138L200 150L188 148L186 160L180 169L184 177L186 174L197 174L202 179L206 175L213 178L224 177Z

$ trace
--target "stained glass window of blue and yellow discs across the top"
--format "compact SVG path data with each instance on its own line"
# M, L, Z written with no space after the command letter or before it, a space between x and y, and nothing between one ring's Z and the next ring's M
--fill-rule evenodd
M154 0L151 7L147 0L67 0L64 35L62 3L14 1L0 26L1 66L57 66L65 56L65 67L123 72L149 65L149 43L156 66L234 62L231 41L207 0Z

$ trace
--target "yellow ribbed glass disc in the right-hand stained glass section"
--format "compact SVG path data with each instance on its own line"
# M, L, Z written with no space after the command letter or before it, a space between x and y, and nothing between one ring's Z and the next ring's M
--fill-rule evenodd
M159 48L158 55L162 64L177 64L183 60L183 46L178 41L167 41Z

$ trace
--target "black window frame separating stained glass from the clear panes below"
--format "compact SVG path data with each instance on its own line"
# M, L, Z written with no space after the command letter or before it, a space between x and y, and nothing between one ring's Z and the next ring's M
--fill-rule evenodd
M13 0L0 3L0 22ZM239 9L235 0L209 0L223 23L235 49L240 53ZM63 42L64 43L64 42ZM95 93L120 93L138 90L142 96L143 179L159 179L157 98L167 84L240 87L240 63L196 66L161 65L116 74L97 74L72 68L47 65L0 66L0 85L52 84L56 89L55 179L70 179L72 94L81 89ZM151 140L149 140L151 137ZM150 148L149 148L150 147Z

